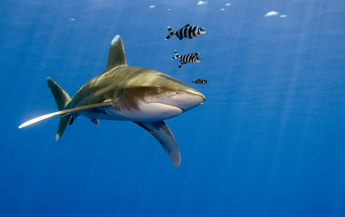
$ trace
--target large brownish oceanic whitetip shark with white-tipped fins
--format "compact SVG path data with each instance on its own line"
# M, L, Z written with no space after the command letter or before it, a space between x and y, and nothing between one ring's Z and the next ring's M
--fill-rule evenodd
M175 167L180 165L180 152L166 119L201 105L205 96L174 77L153 69L128 66L120 36L109 47L107 66L84 84L71 98L50 77L47 78L59 112L46 114L19 126L60 115L56 134L58 141L69 122L79 115L98 126L100 120L133 121L150 132L162 145Z

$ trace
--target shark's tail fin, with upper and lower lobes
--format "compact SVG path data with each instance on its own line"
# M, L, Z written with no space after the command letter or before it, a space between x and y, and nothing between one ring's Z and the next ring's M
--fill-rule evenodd
M66 105L71 101L71 97L50 77L47 78L48 88L55 98L56 105L58 106L59 111L65 110ZM58 131L56 133L55 141L58 141L65 131L68 124L71 114L61 115Z

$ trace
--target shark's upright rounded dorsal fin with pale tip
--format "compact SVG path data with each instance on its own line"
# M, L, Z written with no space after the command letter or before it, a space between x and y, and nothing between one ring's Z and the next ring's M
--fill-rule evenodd
M119 35L117 35L114 39L112 39L110 43L107 66L106 69L104 69L103 73L106 73L110 69L115 68L119 65L127 65L127 63L122 39Z

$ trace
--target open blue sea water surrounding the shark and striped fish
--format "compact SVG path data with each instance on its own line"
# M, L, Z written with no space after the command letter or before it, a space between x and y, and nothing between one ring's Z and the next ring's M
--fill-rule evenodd
M345 216L345 2L197 3L0 2L1 216ZM187 23L206 34L165 40ZM57 111L46 77L73 96L116 35L128 65L208 81L166 121L177 168L132 122L18 129Z

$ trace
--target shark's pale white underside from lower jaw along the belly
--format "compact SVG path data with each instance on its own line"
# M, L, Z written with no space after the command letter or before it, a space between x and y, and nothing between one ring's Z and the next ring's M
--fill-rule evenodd
M102 110L102 111L99 111ZM82 113L89 119L113 120L113 121L161 121L175 117L183 112L182 109L162 103L142 103L139 109L122 109L117 106L99 107L98 111Z

